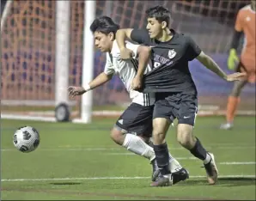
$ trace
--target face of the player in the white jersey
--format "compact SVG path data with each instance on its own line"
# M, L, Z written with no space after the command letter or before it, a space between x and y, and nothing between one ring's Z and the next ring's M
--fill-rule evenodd
M101 32L94 32L94 44L101 52L111 52L113 33L103 34Z

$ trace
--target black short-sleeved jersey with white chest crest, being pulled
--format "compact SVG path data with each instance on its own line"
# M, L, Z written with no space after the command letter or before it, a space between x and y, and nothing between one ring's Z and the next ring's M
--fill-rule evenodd
M189 36L178 34L173 29L171 32L173 38L166 42L150 39L146 29L131 32L131 40L152 48L153 70L144 76L142 91L197 94L188 62L198 57L201 50Z

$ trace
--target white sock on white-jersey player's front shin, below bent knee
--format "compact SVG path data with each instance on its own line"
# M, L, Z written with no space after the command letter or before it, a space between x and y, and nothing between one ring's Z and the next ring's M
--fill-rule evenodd
M141 137L127 133L122 146L137 155L142 155L150 161L155 159L154 149L145 143Z

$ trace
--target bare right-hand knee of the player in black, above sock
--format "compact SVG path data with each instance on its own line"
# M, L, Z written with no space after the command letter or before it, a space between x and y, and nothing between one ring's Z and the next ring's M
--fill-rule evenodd
M192 125L178 125L177 141L186 149L192 149L195 143L195 139L192 137Z

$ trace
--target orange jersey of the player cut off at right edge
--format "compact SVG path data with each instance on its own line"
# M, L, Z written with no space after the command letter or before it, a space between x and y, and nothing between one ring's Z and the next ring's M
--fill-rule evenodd
M244 46L241 52L241 63L245 66L248 74L251 74L251 81L255 82L256 70L256 12L251 5L240 9L235 21L235 30L245 35Z

